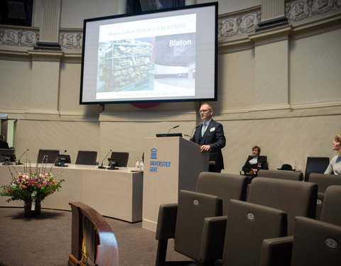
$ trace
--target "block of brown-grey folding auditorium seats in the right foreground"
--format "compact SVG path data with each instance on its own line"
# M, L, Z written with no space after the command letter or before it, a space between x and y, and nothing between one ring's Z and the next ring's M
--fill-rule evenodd
M248 184L238 174L200 173L195 192L180 190L178 203L160 206L156 265L173 265L166 261L170 238L199 265L341 265L341 182L331 176Z

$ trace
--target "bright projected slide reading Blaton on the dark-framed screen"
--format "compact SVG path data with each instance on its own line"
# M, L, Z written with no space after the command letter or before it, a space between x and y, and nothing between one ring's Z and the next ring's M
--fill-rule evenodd
M196 15L99 27L97 99L195 95Z

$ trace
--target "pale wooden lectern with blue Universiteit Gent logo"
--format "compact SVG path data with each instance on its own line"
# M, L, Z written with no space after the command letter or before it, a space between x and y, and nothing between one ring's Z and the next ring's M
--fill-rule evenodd
M180 137L146 138L142 228L156 231L161 204L177 203L178 191L195 191L200 172L208 171L210 153Z

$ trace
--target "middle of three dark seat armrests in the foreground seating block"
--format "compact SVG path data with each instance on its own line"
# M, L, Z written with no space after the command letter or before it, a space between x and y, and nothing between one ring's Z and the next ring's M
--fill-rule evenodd
M202 226L200 261L222 259L227 216L207 217Z

